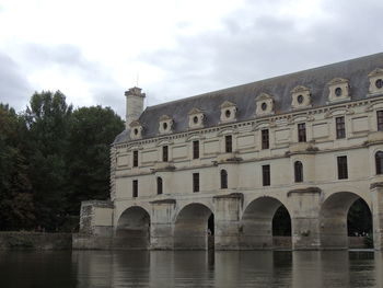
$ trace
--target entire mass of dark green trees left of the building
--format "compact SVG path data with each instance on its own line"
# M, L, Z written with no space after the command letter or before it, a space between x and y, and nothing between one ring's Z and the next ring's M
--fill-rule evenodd
M108 197L123 129L111 108L73 112L60 91L35 93L23 115L0 104L0 230L72 230L81 200Z

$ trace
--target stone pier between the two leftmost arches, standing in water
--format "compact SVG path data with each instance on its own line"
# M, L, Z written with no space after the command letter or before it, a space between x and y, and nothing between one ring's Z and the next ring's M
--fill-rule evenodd
M152 250L172 250L173 216L175 210L174 199L152 201L152 218L150 223L150 247Z

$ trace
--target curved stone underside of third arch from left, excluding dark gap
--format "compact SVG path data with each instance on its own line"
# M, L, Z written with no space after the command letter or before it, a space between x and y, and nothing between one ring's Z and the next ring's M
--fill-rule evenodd
M272 249L272 219L279 207L291 212L282 201L275 197L263 196L251 201L241 219L241 246L243 249Z

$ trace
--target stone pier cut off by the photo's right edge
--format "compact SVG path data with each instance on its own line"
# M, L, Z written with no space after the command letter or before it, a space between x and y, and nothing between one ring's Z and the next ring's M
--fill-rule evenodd
M372 198L373 243L375 250L383 250L383 182L370 186Z

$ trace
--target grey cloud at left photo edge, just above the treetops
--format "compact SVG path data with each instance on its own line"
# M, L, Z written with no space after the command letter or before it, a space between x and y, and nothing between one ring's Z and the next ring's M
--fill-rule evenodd
M0 53L0 102L10 104L16 111L24 110L33 90L21 67Z

